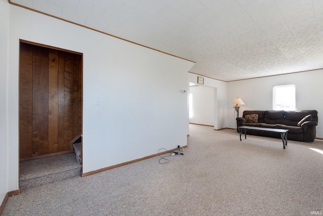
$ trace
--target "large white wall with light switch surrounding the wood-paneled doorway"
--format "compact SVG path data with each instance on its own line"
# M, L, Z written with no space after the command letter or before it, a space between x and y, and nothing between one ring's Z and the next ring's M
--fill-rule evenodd
M187 144L187 95L181 90L188 90L194 63L10 9L9 190L18 189L19 39L83 53L83 173Z

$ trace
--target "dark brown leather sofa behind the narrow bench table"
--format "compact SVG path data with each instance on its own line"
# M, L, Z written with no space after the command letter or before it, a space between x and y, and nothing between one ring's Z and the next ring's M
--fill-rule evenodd
M237 118L237 126L245 125L289 129L287 135L288 140L313 142L316 136L317 121L318 117L316 110L246 110L243 112L242 117ZM277 133L257 131L248 131L247 133L250 135L281 138L280 134Z

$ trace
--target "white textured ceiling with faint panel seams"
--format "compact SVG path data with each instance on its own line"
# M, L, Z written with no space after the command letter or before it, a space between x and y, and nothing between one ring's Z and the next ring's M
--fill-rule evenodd
M322 0L11 0L232 81L323 68ZM90 38L89 38L90 39Z

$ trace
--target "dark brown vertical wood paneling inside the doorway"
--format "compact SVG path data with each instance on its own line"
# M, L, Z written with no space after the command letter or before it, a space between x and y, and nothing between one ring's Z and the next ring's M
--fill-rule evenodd
M82 55L20 42L20 159L70 151L82 130Z

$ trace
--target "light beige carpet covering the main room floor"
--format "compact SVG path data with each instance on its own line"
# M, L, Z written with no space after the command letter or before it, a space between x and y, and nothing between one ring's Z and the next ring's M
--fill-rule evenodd
M283 149L280 139L191 124L181 159L27 189L1 215L311 215L323 210L323 154L310 148L323 142Z

